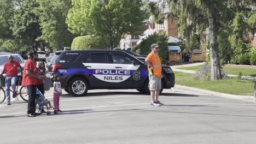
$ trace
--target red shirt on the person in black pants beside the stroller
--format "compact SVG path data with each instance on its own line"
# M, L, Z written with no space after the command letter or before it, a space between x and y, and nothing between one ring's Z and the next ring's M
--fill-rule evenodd
M32 61L32 59L27 59L23 71L23 77L22 77L22 86L27 86L27 85L37 85L37 77L32 77L27 74L26 70L30 70L31 73L37 75L36 73L36 63Z

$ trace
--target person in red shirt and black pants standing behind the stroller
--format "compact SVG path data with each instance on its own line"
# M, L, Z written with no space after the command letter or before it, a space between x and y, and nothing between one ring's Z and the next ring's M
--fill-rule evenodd
M43 79L45 75L38 75L36 73L36 61L38 59L37 51L30 51L28 56L24 67L22 86L26 86L28 91L27 116L35 117L37 115L35 103L37 80Z

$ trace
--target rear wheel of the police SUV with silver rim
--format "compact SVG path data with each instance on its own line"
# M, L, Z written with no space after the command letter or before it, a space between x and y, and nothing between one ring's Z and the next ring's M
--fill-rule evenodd
M68 85L68 91L74 97L82 97L88 91L88 83L85 79L81 77L75 77Z

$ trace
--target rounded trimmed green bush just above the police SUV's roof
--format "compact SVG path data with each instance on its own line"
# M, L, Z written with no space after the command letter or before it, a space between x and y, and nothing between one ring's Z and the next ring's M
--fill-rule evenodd
M72 50L106 49L100 37L95 35L86 35L76 37L71 45Z

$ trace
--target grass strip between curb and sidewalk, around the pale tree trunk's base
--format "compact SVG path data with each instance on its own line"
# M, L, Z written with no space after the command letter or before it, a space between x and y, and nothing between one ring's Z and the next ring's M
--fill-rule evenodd
M214 92L236 94L236 95L253 95L254 82L229 77L219 81L199 81L193 79L193 74L174 71L175 83L188 87L207 89Z

